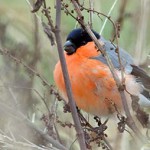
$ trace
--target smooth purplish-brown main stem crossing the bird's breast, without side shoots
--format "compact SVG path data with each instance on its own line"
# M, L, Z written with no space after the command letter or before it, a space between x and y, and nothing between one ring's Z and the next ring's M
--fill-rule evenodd
M61 0L56 0L56 26L55 26L55 37L56 37L56 43L57 43L57 48L58 48L58 53L59 53L59 58L61 62L61 67L62 67L62 72L63 72L63 77L65 81L65 86L66 86L66 92L67 96L69 99L69 104L70 104L70 109L71 109L71 114L75 123L75 129L77 132L79 144L80 144L80 149L81 150L86 150L86 145L85 145L85 138L84 138L84 133L80 124L80 120L78 117L76 105L75 105L75 100L72 95L72 88L71 88L71 83L69 80L69 74L67 70L67 65L65 61L65 56L64 52L62 49L62 40L60 37L60 21L61 21Z

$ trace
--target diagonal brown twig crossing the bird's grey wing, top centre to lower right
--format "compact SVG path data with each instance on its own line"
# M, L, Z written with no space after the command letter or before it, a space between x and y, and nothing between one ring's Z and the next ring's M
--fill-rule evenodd
M131 116L131 113L129 111L129 107L128 107L128 104L127 104L126 96L125 96L125 93L124 93L124 85L122 85L122 83L120 82L120 79L119 79L119 77L117 76L117 74L115 72L113 64L112 64L109 56L107 55L105 49L103 48L103 44L104 43L100 43L97 40L97 38L95 37L95 35L91 31L89 25L84 22L84 18L83 18L82 13L81 13L81 11L79 9L77 1L72 0L72 3L74 5L75 11L76 11L76 13L78 15L79 23L87 31L87 33L89 34L89 36L91 36L91 38L95 42L95 44L98 47L98 49L101 51L101 53L105 56L105 58L107 60L108 67L109 67L109 69L110 69L110 71L111 71L111 73L112 73L112 75L114 77L114 80L116 81L116 84L118 86L118 89L119 89L119 92L120 92L120 95L121 95L121 100L122 100L123 108L124 108L125 114L127 116L127 125L134 131L134 133L137 135L137 137L139 139L141 139L141 141L143 141L144 137L141 134L141 132L139 131L139 129L137 128L137 126L136 126L136 124L135 124L135 122L134 122L134 120L133 120L133 118Z

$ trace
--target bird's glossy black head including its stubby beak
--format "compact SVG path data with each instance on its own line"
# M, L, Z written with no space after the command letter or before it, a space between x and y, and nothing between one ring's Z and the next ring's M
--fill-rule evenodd
M92 32L94 33L97 39L100 38L100 35L97 32L95 32L94 30L92 30ZM66 43L64 44L64 50L67 52L68 55L71 55L74 52L76 52L76 50L80 46L83 46L91 41L91 37L84 29L77 28L72 30L67 36Z

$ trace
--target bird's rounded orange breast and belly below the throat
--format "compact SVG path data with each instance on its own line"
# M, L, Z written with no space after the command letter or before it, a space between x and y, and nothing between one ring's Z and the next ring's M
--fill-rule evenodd
M101 62L70 57L66 59L73 96L79 108L92 114L108 114L114 110L112 103L120 107L120 96L109 68ZM60 65L60 64L59 64ZM67 98L60 66L55 69L56 85ZM59 66L59 67L58 67Z

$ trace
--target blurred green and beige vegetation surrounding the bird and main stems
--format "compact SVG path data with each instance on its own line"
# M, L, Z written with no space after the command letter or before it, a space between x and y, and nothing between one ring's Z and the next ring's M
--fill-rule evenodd
M45 0L39 0L41 4ZM115 0L80 1L83 6L108 15L119 32L119 46L126 49L135 59L135 63L143 67L150 74L150 2L149 0ZM57 88L54 86L53 70L58 61L57 45L52 45L53 33L47 30L48 20L42 13L43 4L36 10L36 1L29 0L1 0L0 1L0 149L80 149L71 113L62 101ZM46 1L46 8L53 22L56 18L55 1ZM32 4L34 4L32 6ZM61 39L77 25L77 19L70 16L66 10L76 16L74 6L70 1L62 1ZM34 9L33 9L34 8ZM65 8L67 8L65 10ZM31 12L34 10L34 13ZM88 22L91 11L83 9L85 21ZM92 25L96 31L101 31L107 17L91 13ZM119 22L118 22L119 21ZM42 26L44 22L45 26ZM79 24L78 24L79 26ZM43 32L45 29L50 39ZM102 35L112 40L114 28L108 20ZM64 106L65 105L65 106ZM64 108L65 107L65 108ZM150 109L145 110L148 114ZM79 112L78 112L79 113ZM92 127L102 123L108 129L102 132L106 139L91 140L87 144L89 149L137 149L130 134L135 137L127 126L123 134L117 131L117 122L102 118L93 119L92 115L83 112L80 119L82 125ZM121 118L123 119L123 118ZM96 121L95 121L96 120ZM83 126L84 126L83 125ZM109 127L109 125L111 125ZM125 124L121 124L123 127ZM138 124L145 135L145 129ZM85 127L85 126L84 126ZM129 132L129 133L128 133ZM87 136L96 137L87 133ZM108 137L107 137L108 136ZM109 141L109 142L108 142ZM126 146L128 146L128 148ZM143 150L150 149L149 142L142 145Z

